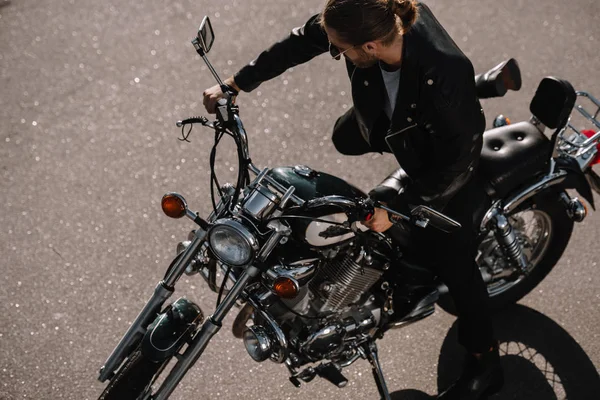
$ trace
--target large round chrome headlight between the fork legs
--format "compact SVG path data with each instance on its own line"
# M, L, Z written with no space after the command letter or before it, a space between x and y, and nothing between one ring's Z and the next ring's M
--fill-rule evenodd
M252 261L258 250L256 237L244 225L231 219L215 221L208 233L208 243L221 262L238 267Z

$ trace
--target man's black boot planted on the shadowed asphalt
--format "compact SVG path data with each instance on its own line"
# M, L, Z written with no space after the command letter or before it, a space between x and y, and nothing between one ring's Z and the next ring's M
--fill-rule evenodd
M469 354L461 377L438 396L441 400L483 400L504 385L498 346L479 358Z

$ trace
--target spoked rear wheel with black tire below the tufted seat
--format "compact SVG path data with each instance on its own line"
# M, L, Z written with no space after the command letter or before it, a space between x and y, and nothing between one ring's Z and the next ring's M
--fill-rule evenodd
M482 274L495 277L487 283L493 312L516 303L531 292L558 263L573 232L573 221L567 216L556 192L534 197L508 217L530 263L526 276L502 277L503 272L510 270L510 265L493 232L479 242L477 264ZM449 295L440 297L438 304L456 315Z

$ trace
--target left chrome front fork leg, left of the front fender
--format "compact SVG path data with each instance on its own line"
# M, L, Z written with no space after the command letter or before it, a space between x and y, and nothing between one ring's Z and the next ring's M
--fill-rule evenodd
M160 308L175 291L175 283L184 273L193 257L196 256L198 249L204 242L205 235L205 231L200 229L196 231L196 237L187 247L171 272L165 277L164 280L160 281L158 285L156 285L154 294L148 300L142 311L140 311L119 344L117 344L113 352L110 354L104 363L104 366L100 369L100 376L98 377L100 382L106 381L113 374L113 372L121 365L125 359L125 356L128 355L131 348L141 340L143 335L146 333L147 326L154 321Z

